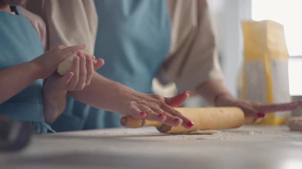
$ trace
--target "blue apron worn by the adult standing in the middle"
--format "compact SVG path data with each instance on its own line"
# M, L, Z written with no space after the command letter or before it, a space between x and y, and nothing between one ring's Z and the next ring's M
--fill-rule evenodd
M152 93L152 80L166 58L170 23L166 1L97 0L99 25L95 55L98 73L138 92ZM68 99L52 125L56 131L121 127L120 115Z

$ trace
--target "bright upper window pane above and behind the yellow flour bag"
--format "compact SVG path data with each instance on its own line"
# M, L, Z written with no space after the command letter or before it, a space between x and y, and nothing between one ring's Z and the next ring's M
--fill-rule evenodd
M252 0L252 19L283 24L290 56L302 55L301 7L301 0Z

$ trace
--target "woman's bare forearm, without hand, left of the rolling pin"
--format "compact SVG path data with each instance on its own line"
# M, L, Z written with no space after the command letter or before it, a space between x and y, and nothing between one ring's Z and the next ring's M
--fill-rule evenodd
M135 91L111 81L98 73L94 73L91 84L81 91L72 91L69 94L76 100L107 111L119 112L116 103L120 94L135 95Z

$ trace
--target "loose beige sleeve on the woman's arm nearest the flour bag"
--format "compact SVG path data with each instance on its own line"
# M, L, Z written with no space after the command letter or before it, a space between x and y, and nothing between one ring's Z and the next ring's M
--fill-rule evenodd
M223 80L206 0L167 0L171 45L158 79L174 81L179 91L194 91L208 80Z

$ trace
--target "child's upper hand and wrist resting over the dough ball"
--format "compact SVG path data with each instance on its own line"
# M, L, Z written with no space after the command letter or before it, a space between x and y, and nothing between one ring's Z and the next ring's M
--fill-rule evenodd
M37 57L31 62L38 68L38 70L40 70L39 77L47 78L54 73L54 71L57 69L58 64L62 62L69 54L75 53L84 48L85 45L70 47L59 45L55 49L49 50L48 52L40 55L40 57Z

